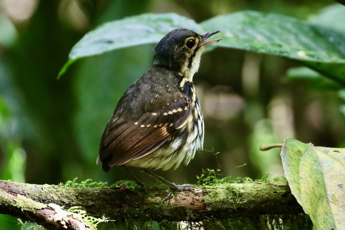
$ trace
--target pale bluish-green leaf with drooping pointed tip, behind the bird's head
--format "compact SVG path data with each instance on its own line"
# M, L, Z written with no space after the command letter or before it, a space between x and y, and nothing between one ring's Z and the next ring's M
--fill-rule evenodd
M59 76L79 58L124 47L158 43L169 31L181 27L203 32L194 20L175 13L141 14L104 23L73 46Z

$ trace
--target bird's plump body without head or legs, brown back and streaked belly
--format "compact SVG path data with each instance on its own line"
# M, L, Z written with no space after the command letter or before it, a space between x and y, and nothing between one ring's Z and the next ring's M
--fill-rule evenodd
M101 138L103 169L177 168L202 148L204 122L193 82L152 66L121 97Z

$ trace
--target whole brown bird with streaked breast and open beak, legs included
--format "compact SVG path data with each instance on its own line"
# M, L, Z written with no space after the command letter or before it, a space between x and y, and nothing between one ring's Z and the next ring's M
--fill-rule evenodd
M138 167L171 189L190 188L149 169L187 165L203 148L204 119L193 76L206 46L220 40L206 39L218 32L174 29L158 42L152 66L122 95L103 132L96 162L102 163L103 171L125 166L131 173L126 166Z

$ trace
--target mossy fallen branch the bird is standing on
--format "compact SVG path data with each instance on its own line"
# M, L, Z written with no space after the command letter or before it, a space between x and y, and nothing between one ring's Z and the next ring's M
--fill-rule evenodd
M162 199L169 192L166 189L127 188L121 191L0 180L0 192L0 213L39 224L42 224L40 213L45 212L43 210L53 211L48 207L50 204L65 208L80 206L91 216L105 215L118 221L201 221L303 213L286 180L216 184L195 188L194 192L176 192L163 203ZM30 202L17 202L19 198L28 198Z

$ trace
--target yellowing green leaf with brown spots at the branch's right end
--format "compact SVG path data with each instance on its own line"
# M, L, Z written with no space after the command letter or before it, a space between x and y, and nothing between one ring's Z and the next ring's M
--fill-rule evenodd
M291 192L316 229L342 229L345 149L286 139L280 155Z

